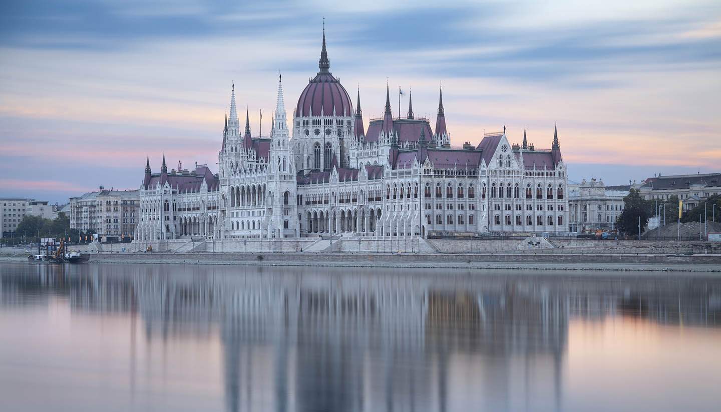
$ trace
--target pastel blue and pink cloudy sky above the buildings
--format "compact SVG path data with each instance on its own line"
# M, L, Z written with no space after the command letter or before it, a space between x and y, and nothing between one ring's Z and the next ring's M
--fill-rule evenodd
M217 171L235 84L254 135L270 131L283 73L288 117L330 71L363 117L388 81L452 145L503 130L549 148L569 177L606 184L720 171L721 2L4 1L0 14L0 197L63 204L137 189L160 169ZM587 4L588 3L588 4ZM407 111L407 98L400 107Z

